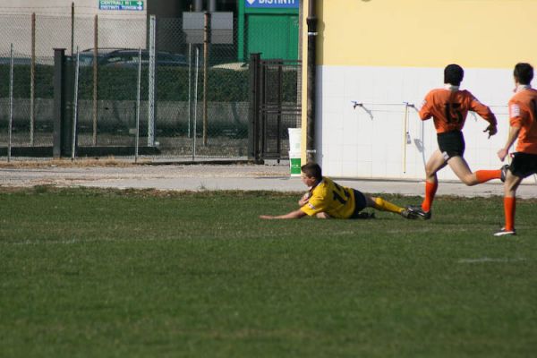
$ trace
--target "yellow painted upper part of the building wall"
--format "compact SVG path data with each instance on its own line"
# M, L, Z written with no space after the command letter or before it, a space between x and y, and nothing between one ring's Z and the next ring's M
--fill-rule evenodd
M303 0L303 162L309 3ZM465 69L511 72L518 62L537 64L537 0L316 0L316 4L318 70L323 66L440 69L456 63ZM318 90L317 107L327 99L320 95L327 96L326 90Z

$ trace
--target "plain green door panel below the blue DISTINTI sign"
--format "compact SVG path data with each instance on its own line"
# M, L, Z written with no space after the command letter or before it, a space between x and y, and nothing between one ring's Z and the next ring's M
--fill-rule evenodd
M247 54L261 58L298 59L298 16L248 15Z

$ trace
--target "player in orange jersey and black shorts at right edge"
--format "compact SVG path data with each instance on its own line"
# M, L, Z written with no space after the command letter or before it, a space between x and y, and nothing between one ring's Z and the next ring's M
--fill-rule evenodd
M522 180L537 173L537 90L530 83L533 80L531 64L516 64L515 95L509 100L509 134L506 145L499 149L498 157L503 162L507 151L516 143L516 153L508 167L504 184L505 226L495 236L514 235L516 188Z

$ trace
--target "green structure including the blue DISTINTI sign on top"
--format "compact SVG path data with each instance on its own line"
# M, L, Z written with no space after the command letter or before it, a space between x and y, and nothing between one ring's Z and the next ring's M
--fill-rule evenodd
M238 60L298 59L299 0L239 0Z

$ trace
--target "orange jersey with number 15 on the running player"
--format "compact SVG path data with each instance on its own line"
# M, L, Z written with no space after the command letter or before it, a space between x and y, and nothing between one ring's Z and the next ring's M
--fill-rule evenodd
M496 116L467 90L431 90L423 100L420 118L432 117L437 132L461 131L468 111L481 115L490 124L496 124Z

